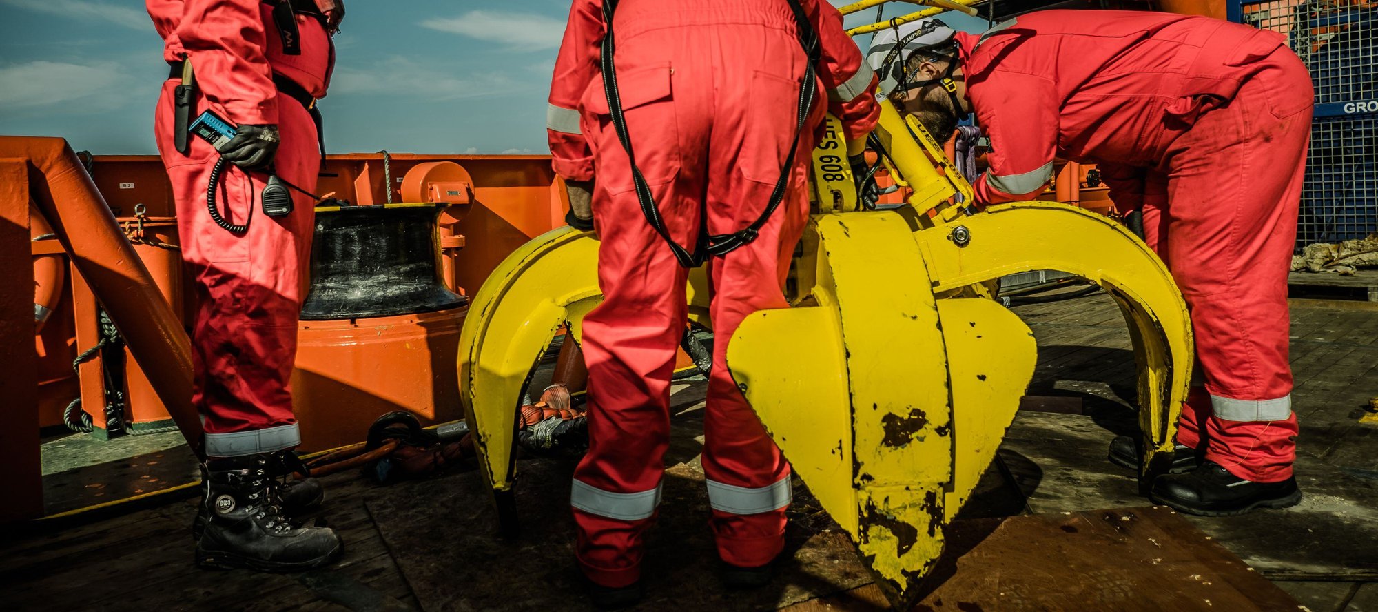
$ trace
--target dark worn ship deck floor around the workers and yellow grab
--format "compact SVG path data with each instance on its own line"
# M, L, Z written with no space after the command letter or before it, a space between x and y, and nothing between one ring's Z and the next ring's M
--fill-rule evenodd
M1378 310L1361 303L1341 306L1294 300L1291 357L1301 420L1297 471L1306 493L1302 504L1233 518L1171 518L1210 538L1178 535L1181 546L1218 544L1317 612L1378 609L1378 423L1361 422L1363 407L1378 396ZM1014 529L1097 509L1146 506L1133 474L1105 462L1109 438L1134 427L1127 404L1133 398L1133 356L1113 303L1098 295L1016 312L1039 340L1039 365L1025 409L995 469L963 511L963 525L988 521ZM697 609L722 611L787 604L876 609L881 600L867 584L870 579L857 572L849 544L827 531L830 521L809 506L802 488L796 488L791 550L805 561L785 568L766 594L721 595L706 558L711 554L703 511L707 502L696 482L701 477L701 437L696 440L701 434L701 383L677 386L675 440L667 467L671 480L682 482L674 487L675 503L661 510L661 522L648 540L655 551L646 561L648 602L656 605L646 609L696 609L685 606L690 602ZM50 491L101 491L101 478L138 470L157 470L149 478L175 481L161 474L183 473L181 449L143 438L105 442L138 444L142 453L96 465L79 465L94 460L81 451L90 445L84 440L45 444L45 459L58 466L45 471L54 482L65 484ZM117 456L114 448L101 452ZM158 463L150 466L150 460ZM0 540L0 594L7 609L44 611L522 609L515 605L522 601L582 609L569 558L572 525L564 510L572 460L528 459L521 469L528 474L520 484L526 507L540 507L524 514L526 543L503 544L488 536L491 510L474 487L478 476L473 470L389 488L344 473L327 478L324 514L346 540L344 558L332 568L299 575L197 569L192 564L193 506L183 499L61 531L12 531ZM127 482L109 487L128 489ZM80 498L63 495L68 503ZM1018 518L1003 520L1010 516ZM978 539L969 550L998 543ZM951 561L960 565L966 560L958 555ZM1003 572L1017 578L1020 569L1006 567ZM960 578L948 582L951 589L962 584ZM934 593L943 586L937 589ZM1236 590L1258 594L1255 602L1266 606L1262 602L1268 598L1258 589ZM1000 608L1029 608L1016 604L1003 601Z

